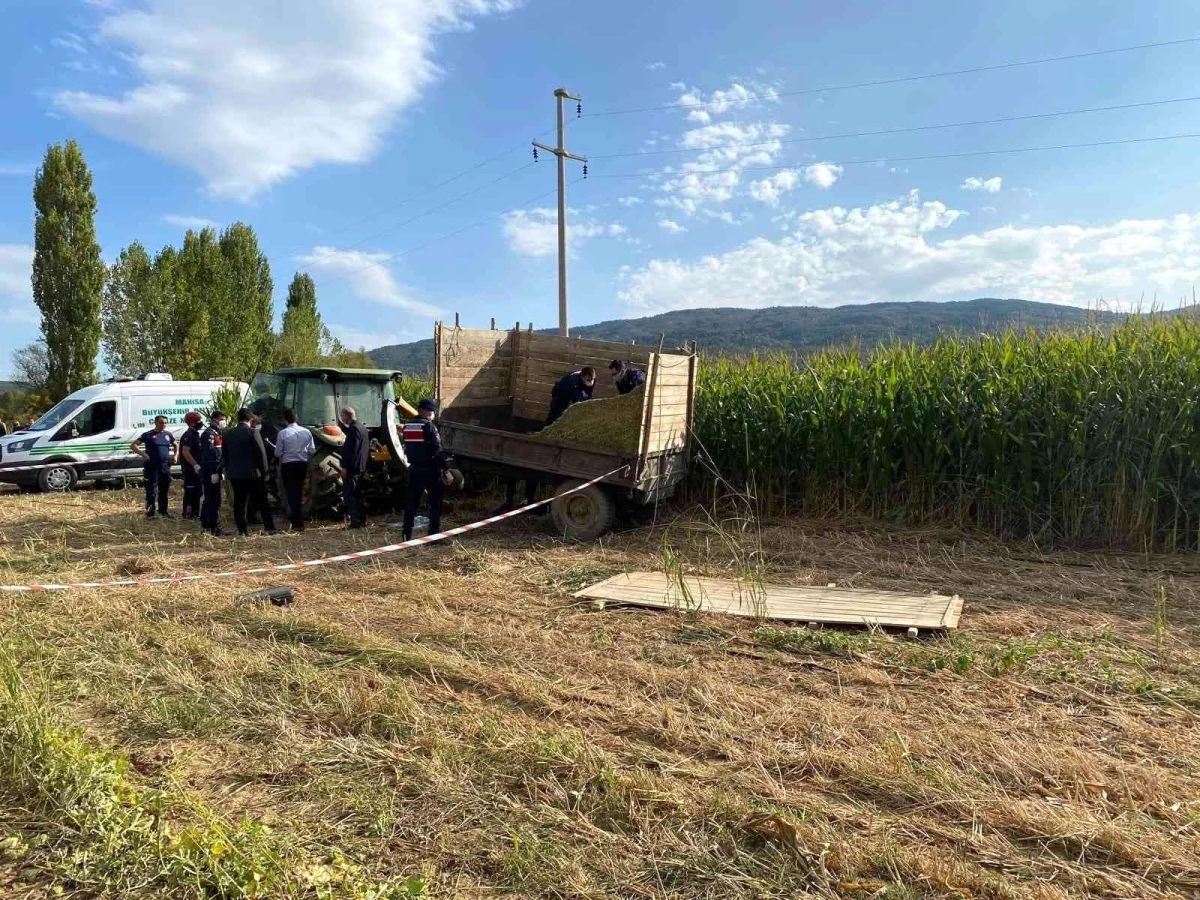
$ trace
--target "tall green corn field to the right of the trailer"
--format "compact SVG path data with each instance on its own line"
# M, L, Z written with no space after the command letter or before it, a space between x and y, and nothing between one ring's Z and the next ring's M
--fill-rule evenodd
M1200 322L709 359L696 436L767 508L1195 548ZM697 446L697 451L700 448Z

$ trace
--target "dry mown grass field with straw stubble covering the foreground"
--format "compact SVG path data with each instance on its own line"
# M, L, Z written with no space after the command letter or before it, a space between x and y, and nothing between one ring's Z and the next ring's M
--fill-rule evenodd
M202 539L139 506L0 496L0 582L396 539ZM1194 557L776 521L769 580L959 593L962 628L571 601L661 566L665 533L691 570L732 570L701 517L668 518L0 594L0 896L1200 896ZM280 583L294 606L235 600Z

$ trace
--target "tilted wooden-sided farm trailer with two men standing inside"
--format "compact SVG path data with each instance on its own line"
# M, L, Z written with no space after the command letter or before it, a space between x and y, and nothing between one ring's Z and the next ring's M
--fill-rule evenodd
M434 391L446 452L464 473L550 485L551 515L566 536L592 540L616 520L618 503L666 499L686 476L696 391L696 348L667 350L494 329L434 328ZM554 384L568 372L596 370L593 400L616 397L610 361L646 372L637 449L613 452L535 437ZM568 488L604 476L584 491Z

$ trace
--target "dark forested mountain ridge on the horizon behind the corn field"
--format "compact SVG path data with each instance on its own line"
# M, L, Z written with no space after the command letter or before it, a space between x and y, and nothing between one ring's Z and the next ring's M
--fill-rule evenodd
M890 341L929 343L952 332L994 332L1012 328L1076 328L1088 322L1115 322L1122 313L1036 300L977 298L944 302L902 301L846 306L703 307L674 310L635 319L608 319L571 329L575 337L632 341L665 346L696 341L702 352L809 353L858 342L875 347ZM557 329L538 329L554 334ZM389 344L368 352L382 368L424 373L433 365L433 340Z

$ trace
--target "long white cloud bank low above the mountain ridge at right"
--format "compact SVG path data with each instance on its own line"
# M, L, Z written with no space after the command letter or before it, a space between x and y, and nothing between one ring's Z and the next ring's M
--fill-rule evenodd
M653 259L620 277L619 295L632 314L980 295L1128 305L1144 290L1182 295L1200 280L1200 214L940 238L964 215L916 192L865 209L812 210L779 240L755 238L691 263Z

